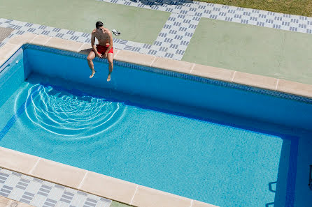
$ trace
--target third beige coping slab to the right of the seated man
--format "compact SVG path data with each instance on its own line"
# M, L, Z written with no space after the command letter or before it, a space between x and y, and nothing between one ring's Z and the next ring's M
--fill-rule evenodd
M232 82L234 70L227 70L223 68L215 68L212 66L204 66L201 64L195 64L194 68L190 72L190 75L206 77L209 79L218 79L218 80L222 80L225 82Z

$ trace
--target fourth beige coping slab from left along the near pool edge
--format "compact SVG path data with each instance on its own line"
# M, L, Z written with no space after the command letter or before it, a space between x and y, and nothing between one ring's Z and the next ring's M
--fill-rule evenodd
M192 199L139 185L131 205L142 207L190 207L191 204Z

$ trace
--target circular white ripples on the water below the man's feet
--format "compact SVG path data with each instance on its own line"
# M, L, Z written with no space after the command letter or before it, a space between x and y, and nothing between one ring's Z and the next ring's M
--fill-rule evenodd
M36 93L34 93L36 91ZM36 84L28 90L25 112L32 123L48 132L80 139L113 127L122 118L125 105L105 98L53 89Z

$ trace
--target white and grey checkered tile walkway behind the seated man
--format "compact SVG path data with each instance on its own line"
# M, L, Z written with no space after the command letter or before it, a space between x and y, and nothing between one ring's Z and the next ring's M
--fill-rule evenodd
M194 34L197 24L201 18L224 20L227 22L237 22L255 26L264 26L287 31L297 31L301 33L312 33L312 18L297 15L287 15L272 13L264 10L254 10L249 8L239 8L213 3L193 1L183 5L162 4L163 0L157 0L157 5L150 1L150 5L134 2L130 0L100 0L110 3L118 3L139 8L152 10L162 10L170 12L169 19L164 24L153 45L135 43L128 40L114 38L114 47L126 49L143 54L153 54L170 59L181 60L187 49L187 45ZM179 1L183 3L183 1ZM162 4L162 5L161 5ZM71 31L50 26L32 24L30 22L20 22L16 20L0 19L0 26L15 29L8 37L20 35L24 32L44 34L47 36L59 37L78 42L90 43L90 34L80 31ZM8 41L8 38L0 43L0 47Z

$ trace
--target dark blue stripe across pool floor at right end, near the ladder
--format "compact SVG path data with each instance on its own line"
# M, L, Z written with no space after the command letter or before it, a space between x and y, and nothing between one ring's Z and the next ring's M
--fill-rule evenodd
M286 190L286 207L293 207L295 203L296 176L297 176L297 157L299 141L297 137L287 137L291 140L290 158L288 165L288 178Z

